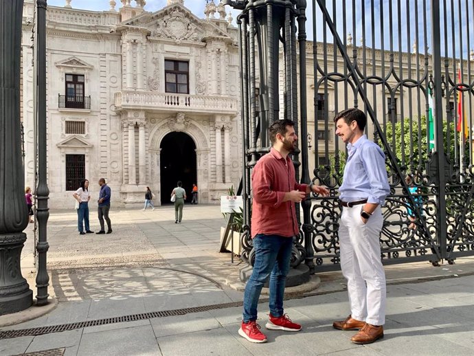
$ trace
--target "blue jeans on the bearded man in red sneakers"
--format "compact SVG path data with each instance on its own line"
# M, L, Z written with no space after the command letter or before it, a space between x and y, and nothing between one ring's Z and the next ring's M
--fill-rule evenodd
M270 313L279 318L283 315L283 295L286 275L290 269L293 238L278 235L257 234L253 238L255 264L244 293L243 321L257 320L258 298L262 287L270 277Z

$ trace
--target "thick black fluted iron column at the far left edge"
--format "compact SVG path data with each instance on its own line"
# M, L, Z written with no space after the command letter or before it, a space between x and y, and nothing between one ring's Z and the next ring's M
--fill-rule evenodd
M28 225L21 162L20 45L23 0L0 1L0 315L30 307L33 292L21 276Z

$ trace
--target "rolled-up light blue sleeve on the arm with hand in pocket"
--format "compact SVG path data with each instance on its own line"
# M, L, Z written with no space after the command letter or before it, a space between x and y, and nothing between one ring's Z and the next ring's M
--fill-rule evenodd
M377 146L364 146L362 160L365 172L370 183L368 203L383 205L385 198L390 194L390 185L385 169L385 155Z

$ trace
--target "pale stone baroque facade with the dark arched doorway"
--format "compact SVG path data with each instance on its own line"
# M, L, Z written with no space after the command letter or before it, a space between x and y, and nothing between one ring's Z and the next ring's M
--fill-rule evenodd
M116 10L47 10L47 168L49 206L74 206L80 180L104 177L115 206L168 203L178 180L217 203L240 179L242 153L237 29L223 5L205 19L168 0ZM72 4L74 5L74 4ZM34 185L34 1L25 0L22 120L25 184ZM94 192L96 191L96 192Z

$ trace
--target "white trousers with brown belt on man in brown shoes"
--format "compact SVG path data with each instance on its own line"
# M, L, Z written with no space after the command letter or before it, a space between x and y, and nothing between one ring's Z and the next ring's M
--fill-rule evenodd
M379 243L383 216L379 206L364 224L362 206L342 208L339 221L341 269L348 282L352 318L383 325L386 285Z

